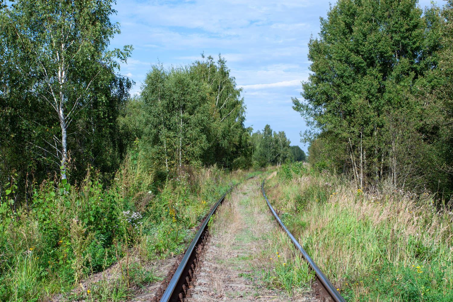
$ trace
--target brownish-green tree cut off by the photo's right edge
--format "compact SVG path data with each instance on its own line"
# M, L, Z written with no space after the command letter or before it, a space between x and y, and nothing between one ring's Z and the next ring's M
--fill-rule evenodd
M439 66L426 77L417 94L424 104L421 132L424 144L430 147L427 178L446 196L453 195L453 1L442 10ZM427 168L427 167L425 167ZM436 187L437 188L437 187Z

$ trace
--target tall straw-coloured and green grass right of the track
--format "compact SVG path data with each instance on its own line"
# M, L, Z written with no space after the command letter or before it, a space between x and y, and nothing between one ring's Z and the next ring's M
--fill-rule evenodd
M429 194L416 196L389 188L361 192L334 177L311 175L288 182L275 178L267 187L276 208L306 225L291 231L338 286L345 275L362 278L382 264L392 264L423 266L433 280L431 268L443 267L443 284L433 281L433 288L453 287L452 215L433 206ZM327 200L317 200L315 193ZM309 197L301 212L295 211L298 195ZM358 285L359 292L368 295L368 287Z

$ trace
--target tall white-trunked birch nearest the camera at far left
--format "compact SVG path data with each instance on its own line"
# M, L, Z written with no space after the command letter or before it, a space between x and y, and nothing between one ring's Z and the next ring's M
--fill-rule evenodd
M93 86L110 85L111 71L128 58L131 46L109 50L119 34L112 24L111 0L19 0L5 7L2 27L14 66L30 83L29 93L48 108L60 129L45 144L34 144L42 157L53 157L61 178L67 177L68 135L72 124L96 98ZM39 120L33 120L35 127Z

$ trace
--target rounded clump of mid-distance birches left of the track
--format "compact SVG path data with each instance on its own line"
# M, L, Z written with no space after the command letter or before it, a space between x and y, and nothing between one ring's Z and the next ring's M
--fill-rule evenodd
M128 105L125 118L140 138L145 163L152 171L171 172L184 164L250 166L245 105L234 77L219 56L186 67L153 66L140 99ZM129 113L130 112L130 113ZM145 126L143 126L145 125Z

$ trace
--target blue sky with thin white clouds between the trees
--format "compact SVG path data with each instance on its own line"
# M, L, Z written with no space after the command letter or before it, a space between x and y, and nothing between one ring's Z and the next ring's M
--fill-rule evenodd
M305 122L291 108L291 97L300 96L300 82L308 78L308 40L318 35L328 0L117 0L115 9L121 34L111 46L135 48L120 70L136 82L132 93L140 92L153 64L185 65L203 52L215 58L221 53L244 88L246 126L256 131L269 124L307 151L299 135Z

